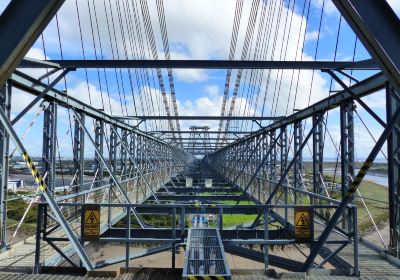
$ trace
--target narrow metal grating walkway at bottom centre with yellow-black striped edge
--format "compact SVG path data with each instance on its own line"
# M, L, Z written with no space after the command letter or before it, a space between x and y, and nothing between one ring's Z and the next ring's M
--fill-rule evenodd
M216 229L189 229L183 279L231 279L221 236Z

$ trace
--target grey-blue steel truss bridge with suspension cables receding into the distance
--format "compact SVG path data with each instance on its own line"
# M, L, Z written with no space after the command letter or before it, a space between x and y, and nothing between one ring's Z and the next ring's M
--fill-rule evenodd
M82 2L88 3L91 23L106 21L94 20L97 15L92 13L96 13L96 5L100 4L95 4L96 1ZM26 55L35 42L42 40L45 45L43 32L46 27L56 20L58 28L56 15L64 1L6 1L0 16L1 273L54 273L55 267L83 268L91 272L118 263L124 263L121 266L129 270L134 263L132 259L169 250L172 252L171 268L175 269L176 250L186 247L183 276L188 279L235 278L237 272L227 267L225 252L263 263L266 273L271 273L269 268L272 266L310 275L359 276L361 273L371 277L400 276L400 21L386 1L325 1L334 4L340 19L347 22L369 55L366 59L345 61L336 59L336 52L335 59L324 61L303 61L297 56L294 60L286 57L276 59L276 56L269 60L262 56L253 59L247 56L247 50L242 52L240 60L235 59L241 0L236 3L227 60L170 59L164 4L161 0L152 1L157 4L164 60L157 50L156 40L160 38L153 33L154 23L150 20L147 1L140 1L140 5L116 2L123 5L118 6L118 12L124 7L128 10L127 19L135 17L136 24L142 27L134 32L131 21L125 30L121 18L109 15L107 11L106 15L115 17L116 22L119 19L116 23L120 26L118 32L126 32L127 37L136 34L136 40L148 41L148 46L144 46L148 50L143 55L120 57L113 54L108 59L102 53L100 28L93 29L92 26L92 32L95 30L92 34L82 35L81 30L83 59L64 57L61 40L61 59L30 58ZM263 1L253 2L252 13L261 13L256 8ZM264 12L269 9L271 15L278 13L274 5L281 1L264 2L263 5L267 5ZM309 2L304 1L304 6ZM76 5L79 18L80 6ZM106 7L105 2L102 5ZM295 6L292 1L282 1L281 5L287 5L288 9ZM141 13L135 10L139 6ZM111 4L110 9L114 9ZM257 18L262 20L260 24L267 24L263 17L266 15ZM243 48L246 44L249 47L254 39L250 36L255 19L249 20ZM110 28L108 20L107 17ZM108 32L111 36L110 29ZM262 31L258 34L260 38L274 36ZM82 39L85 36L93 36L93 57L87 54L85 57ZM286 36L294 35L286 33ZM114 47L113 42L110 44ZM116 44L115 48L118 48ZM42 74L37 77L31 74L32 69L42 71ZM226 69L221 115L179 115L178 94L175 93L172 74L175 69ZM235 111L235 100L242 74L250 70L278 73L309 70L313 77L314 73L326 75L340 89L332 90L314 104L293 108L293 113L257 115L259 112L254 111L240 115ZM135 105L135 110L114 110L113 113L105 109L104 103L99 108L98 103L83 98L83 93L72 95L68 90L66 78L75 72L86 73L90 96L89 80L98 77L99 84L103 83L105 87L101 75L104 73L107 77L114 73L112 71L116 76L120 75L117 81L126 84L130 81L131 86L135 77L139 79L143 73L153 73L152 79L158 83L161 92L159 104L162 111L152 114L145 109L136 110ZM164 72L168 74L168 84L164 84ZM360 72L363 74L357 76L356 73ZM93 76L91 73L97 74ZM230 87L233 73L237 79ZM107 83L107 79L105 81ZM103 88L105 92L109 90L108 86L106 90ZM21 91L29 94L30 101L15 113L12 100ZM133 91L132 88L132 95ZM374 111L365 98L382 92L386 96L386 118ZM128 92L122 90L122 95L126 94ZM121 108L122 103L121 99ZM141 106L145 105L142 103ZM372 148L359 168L355 163L355 147L358 145L355 137L356 108L362 108L381 130L380 135L372 138ZM32 121L26 132L21 133L19 125L33 110L38 110L34 120L40 117L42 121L39 124ZM333 125L328 122L328 116L334 112L339 115L336 127L340 143L336 166L339 166L341 175L338 176L339 182L333 182L336 193L332 195L332 188L328 190L324 177L324 149L327 138L332 138L329 131ZM68 116L67 129L65 124L63 126L65 116ZM218 128L212 124L205 125L212 121L219 122ZM181 128L184 122L190 122L191 126ZM252 123L251 129L243 126L244 122ZM62 127L66 131L60 132ZM32 137L35 138L34 144L25 139L31 128L40 135ZM71 160L60 156L63 137L71 140ZM39 164L31 153L35 145L42 147ZM305 172L306 151L309 151L311 161L309 174ZM25 171L29 170L35 181L40 199L35 201L35 194L27 204L28 210L37 204L36 234L24 242L11 243L7 204L13 197L7 186L11 173L9 166L13 157L18 158L17 152L26 164ZM381 152L387 155L388 163L389 236L387 243L383 242L385 248L359 237L358 204L355 200L362 198L359 186ZM63 186L66 185L64 175L70 180L68 191L59 190L60 174ZM211 186L208 185L210 182ZM82 209L87 204L100 207L100 236L97 241L82 238ZM272 246L298 246L295 212L304 207L313 216L313 237L304 245L306 248L300 250L303 256L294 259L271 251ZM224 226L224 219L230 214L246 214L254 219L230 228ZM169 226L151 224L147 218L154 215L168 216L171 220ZM209 226L212 230L195 229L187 223L191 217L209 215L215 218ZM202 247L196 242L202 243ZM125 246L125 253L93 261L90 252L94 246L108 243ZM131 251L132 245L143 243L154 247L139 253Z

